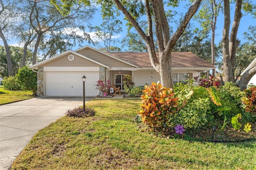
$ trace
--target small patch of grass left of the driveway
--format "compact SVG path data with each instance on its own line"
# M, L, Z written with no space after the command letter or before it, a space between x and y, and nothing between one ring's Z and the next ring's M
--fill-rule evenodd
M32 91L4 90L0 87L0 105L34 98Z

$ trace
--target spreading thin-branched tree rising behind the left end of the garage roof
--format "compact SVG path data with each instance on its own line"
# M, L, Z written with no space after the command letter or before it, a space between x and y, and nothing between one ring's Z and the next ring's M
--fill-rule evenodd
M66 16L62 16L48 1L26 0L25 7L30 9L30 25L37 34L34 43L32 64L36 63L38 46L45 34L51 31L58 32L66 27L76 28L82 21L89 22L95 11L92 5L84 6L82 4L76 4L75 8L70 8L70 12Z

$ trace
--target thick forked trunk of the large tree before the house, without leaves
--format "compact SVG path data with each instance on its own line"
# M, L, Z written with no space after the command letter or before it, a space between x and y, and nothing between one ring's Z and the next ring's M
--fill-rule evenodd
M154 13L154 21L156 27L156 38L158 42L158 52L159 52L159 61L156 57L156 51L154 47L154 37L152 31L152 16L150 10L150 1L145 1L145 9L148 19L148 35L146 35L143 30L140 28L138 22L134 20L131 14L126 10L126 8L122 5L119 0L113 0L119 10L126 16L126 18L130 21L132 26L136 29L138 34L144 40L148 47L148 53L150 57L150 61L154 69L160 74L161 83L165 87L173 87L172 84L172 58L171 58L171 51L174 44L180 38L188 22L192 18L192 16L198 10L202 0L194 0L194 3L186 12L183 20L181 21L178 29L170 38L169 32L169 25L166 19L165 11L164 11L164 4L162 0L151 0L152 10Z

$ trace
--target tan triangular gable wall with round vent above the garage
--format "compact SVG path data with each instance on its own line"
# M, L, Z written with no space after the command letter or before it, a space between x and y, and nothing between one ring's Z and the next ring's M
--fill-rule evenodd
M88 59L74 55L74 60L69 61L68 55L64 55L60 58L54 59L48 63L41 65L41 67L100 67L101 65L94 63Z

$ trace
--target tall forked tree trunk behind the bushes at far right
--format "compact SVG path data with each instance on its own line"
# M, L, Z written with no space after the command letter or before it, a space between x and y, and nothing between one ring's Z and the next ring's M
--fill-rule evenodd
M237 31L242 18L241 13L242 0L236 0L236 8L234 15L234 22L232 25L232 30L229 35L230 27L230 2L229 0L224 0L224 28L223 28L223 73L225 76L225 82L231 81L234 82L234 60L237 48Z

